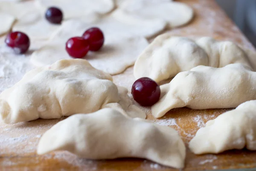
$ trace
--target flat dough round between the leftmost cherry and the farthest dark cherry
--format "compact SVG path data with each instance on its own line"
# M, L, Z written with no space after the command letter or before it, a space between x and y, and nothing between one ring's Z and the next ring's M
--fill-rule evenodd
M27 12L13 26L13 31L25 32L32 39L46 40L49 39L60 25L49 23L37 11Z

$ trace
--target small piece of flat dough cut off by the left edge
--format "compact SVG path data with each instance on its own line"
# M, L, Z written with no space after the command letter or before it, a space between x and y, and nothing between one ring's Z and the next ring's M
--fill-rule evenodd
M12 24L15 22L15 17L10 14L0 13L0 36L9 32Z

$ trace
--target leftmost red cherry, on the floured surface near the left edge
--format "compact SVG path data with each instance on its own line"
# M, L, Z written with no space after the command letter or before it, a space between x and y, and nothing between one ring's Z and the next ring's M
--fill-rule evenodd
M17 54L26 53L30 45L29 37L23 32L10 32L6 36L5 43Z

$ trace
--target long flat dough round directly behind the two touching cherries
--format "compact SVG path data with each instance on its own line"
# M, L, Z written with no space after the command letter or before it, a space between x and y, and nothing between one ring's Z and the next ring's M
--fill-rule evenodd
M115 13L115 12L113 12ZM149 38L165 28L166 24L161 20L154 20L154 23L148 20L137 18L133 20L133 23L123 23L122 21L116 20L113 14L106 17L93 17L92 19L79 19L79 20L68 20L62 23L60 29L58 29L52 37L63 37L67 34L82 35L86 29L90 27L99 27L102 29L104 35L115 35L118 37L145 37ZM76 28L76 29L74 29Z

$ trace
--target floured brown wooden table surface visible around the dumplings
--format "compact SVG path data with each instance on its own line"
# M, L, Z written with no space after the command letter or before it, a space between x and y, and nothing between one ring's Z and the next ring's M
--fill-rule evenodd
M179 0L195 10L195 18L188 25L172 29L173 35L211 36L220 40L231 40L254 50L214 0ZM151 39L152 40L152 39ZM2 43L2 42L1 42ZM129 90L134 82L132 67L114 76L116 84ZM190 110L180 108L169 111L166 116L154 119L150 110L145 109L148 119L161 125L175 128L186 145L196 131L210 119L226 110ZM64 119L64 118L62 118ZM145 159L86 160L67 152L55 152L44 156L35 154L41 135L62 119L43 120L5 125L0 123L0 170L83 170L83 171L174 171ZM184 171L256 168L256 153L247 150L227 151L219 155L196 156L187 149Z

